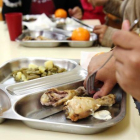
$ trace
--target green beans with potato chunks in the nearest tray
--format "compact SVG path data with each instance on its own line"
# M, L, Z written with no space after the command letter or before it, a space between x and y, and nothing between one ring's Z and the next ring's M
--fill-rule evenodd
M40 77L65 72L66 69L54 65L53 61L46 61L44 66L29 64L28 68L22 68L12 72L12 76L16 81L28 81Z

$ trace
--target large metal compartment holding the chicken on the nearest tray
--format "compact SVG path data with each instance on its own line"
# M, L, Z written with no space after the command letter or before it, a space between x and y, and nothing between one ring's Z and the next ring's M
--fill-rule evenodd
M75 89L81 85L83 85L83 81L58 86L56 88L61 90ZM41 120L32 119L32 114L38 114L45 108L40 104L39 101L43 92L27 95L18 100L15 104L15 111L19 116L24 118L22 121L31 128L76 134L94 134L106 130L107 128L117 124L125 117L125 93L118 86L114 87L111 93L114 93L116 95L122 94L122 100L117 102L112 107L101 108L107 109L111 112L112 119L108 121L97 120L90 116L88 118L79 120L78 122L71 122L70 120L67 120L65 118L63 111ZM49 111L49 108L45 108L45 110Z

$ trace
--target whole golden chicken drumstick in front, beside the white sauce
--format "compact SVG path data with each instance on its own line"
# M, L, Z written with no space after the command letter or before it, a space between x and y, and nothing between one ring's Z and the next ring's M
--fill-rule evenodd
M64 105L66 118L72 121L86 118L100 106L112 106L115 103L115 95L109 94L100 99L93 99L90 97L74 97L68 100Z

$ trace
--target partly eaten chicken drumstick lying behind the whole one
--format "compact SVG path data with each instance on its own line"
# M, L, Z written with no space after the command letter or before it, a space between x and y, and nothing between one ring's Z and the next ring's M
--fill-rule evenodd
M67 100L72 99L74 96L81 96L85 94L85 88L79 87L76 90L64 90L48 89L40 99L42 105L46 106L59 106L65 103Z

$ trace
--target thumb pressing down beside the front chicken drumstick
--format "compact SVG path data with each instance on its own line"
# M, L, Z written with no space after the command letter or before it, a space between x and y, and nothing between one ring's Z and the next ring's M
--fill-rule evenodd
M97 99L97 98L100 98L102 96L109 94L109 92L113 89L114 85L115 84L112 84L112 82L106 81L104 85L101 87L100 91L97 91L94 94L93 98Z

